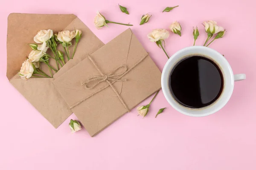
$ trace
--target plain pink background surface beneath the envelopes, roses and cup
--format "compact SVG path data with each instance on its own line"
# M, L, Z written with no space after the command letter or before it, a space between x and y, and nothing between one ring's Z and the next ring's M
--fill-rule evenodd
M121 13L118 3L126 6L130 15ZM173 11L161 13L166 6L176 5L179 7ZM2 1L0 170L255 170L255 5L253 0ZM193 26L198 26L201 34L196 44L202 45L207 35L201 23L216 20L228 32L210 47L224 54L234 73L245 73L247 80L236 82L227 105L210 116L194 118L178 113L160 91L144 119L134 109L93 138L85 129L70 133L68 123L76 119L74 114L55 129L6 78L7 17L12 12L73 13L104 43L128 28L109 24L109 28L97 30L93 25L97 10L108 20L134 24L132 31L161 71L167 57L146 37L152 29L180 21L182 37L171 34L166 40L171 56L192 45ZM139 26L141 15L148 12L153 15L150 21ZM167 109L155 119L158 109L164 107Z

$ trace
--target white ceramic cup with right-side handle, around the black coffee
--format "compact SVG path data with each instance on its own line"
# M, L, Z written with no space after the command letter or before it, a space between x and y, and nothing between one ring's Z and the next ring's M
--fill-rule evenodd
M168 87L168 81L169 81L169 75L172 69L174 68L174 66L177 64L177 62L179 62L180 60L186 57L196 55L196 54L208 57L219 66L221 73L223 75L224 86L219 98L215 102L213 102L211 105L208 105L203 108L188 108L186 106L181 105L172 96ZM234 82L243 80L245 78L246 78L245 74L234 75L230 67L230 64L227 62L227 59L225 59L225 57L219 52L205 46L191 46L191 47L183 48L180 51L177 51L175 54L172 55L172 57L170 57L170 59L168 59L168 61L166 62L166 65L163 68L161 84L162 84L163 94L166 100L169 102L170 105L172 105L173 108L175 108L177 111L185 115L200 117L200 116L210 115L212 113L219 111L221 108L223 108L224 105L227 104L228 100L230 99L233 93Z

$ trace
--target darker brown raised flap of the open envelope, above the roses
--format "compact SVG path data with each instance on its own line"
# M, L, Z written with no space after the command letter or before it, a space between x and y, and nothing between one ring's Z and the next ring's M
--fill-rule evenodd
M38 31L62 31L75 19L74 14L10 14L7 30L7 78L10 80L20 71L23 61L31 51L27 44L34 43L33 38Z

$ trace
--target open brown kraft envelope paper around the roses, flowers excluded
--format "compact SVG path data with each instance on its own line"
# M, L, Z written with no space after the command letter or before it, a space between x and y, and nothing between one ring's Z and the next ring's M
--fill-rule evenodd
M8 17L7 32L7 77L10 83L55 127L57 128L67 119L72 111L67 107L64 99L52 85L54 78L20 79L17 72L28 56L31 48L28 43L35 43L33 37L39 30L52 29L54 32L62 30L80 29L82 37L77 46L74 59L62 67L54 78L80 62L88 54L93 53L104 45L91 31L73 14L17 14ZM63 51L61 45L58 48ZM64 51L63 51L64 52ZM70 47L70 54L73 47ZM50 55L53 56L47 51ZM50 65L56 68L56 63L50 59ZM41 69L49 74L48 67L41 64ZM54 71L52 71L54 73Z

